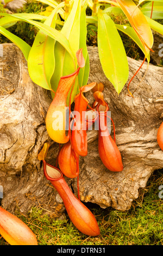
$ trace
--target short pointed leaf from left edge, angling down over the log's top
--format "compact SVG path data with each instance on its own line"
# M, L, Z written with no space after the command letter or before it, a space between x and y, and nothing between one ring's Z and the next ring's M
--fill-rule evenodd
M4 36L6 36L10 41L12 41L24 54L24 57L26 60L28 59L28 55L30 52L30 46L24 42L21 38L18 36L12 34L11 32L7 31L7 29L0 27L0 33Z

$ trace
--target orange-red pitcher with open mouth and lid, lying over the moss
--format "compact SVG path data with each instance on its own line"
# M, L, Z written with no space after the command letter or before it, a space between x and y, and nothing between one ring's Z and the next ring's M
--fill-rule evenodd
M67 214L76 228L85 235L98 236L100 230L96 218L87 207L74 196L70 187L68 187L64 175L57 167L51 166L45 161L45 156L48 150L47 143L44 144L38 155L38 159L43 162L43 172L47 180L51 181L52 185L60 194Z

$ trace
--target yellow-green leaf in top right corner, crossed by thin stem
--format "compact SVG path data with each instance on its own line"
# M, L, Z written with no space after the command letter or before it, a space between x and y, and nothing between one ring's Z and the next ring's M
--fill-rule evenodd
M152 2L144 4L141 11L144 15L151 17ZM163 2L153 3L152 19L163 19Z

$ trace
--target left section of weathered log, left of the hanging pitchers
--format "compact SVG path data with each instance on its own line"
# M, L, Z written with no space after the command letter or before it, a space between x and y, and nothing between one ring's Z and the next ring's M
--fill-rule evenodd
M0 185L3 186L4 208L11 212L17 205L28 211L40 205L61 215L64 205L60 197L43 179L37 154L48 135L45 117L51 97L36 86L28 75L27 62L12 44L3 45L1 57L0 96ZM58 145L51 148L54 157ZM57 193L56 193L57 194ZM51 206L51 209L49 207Z

